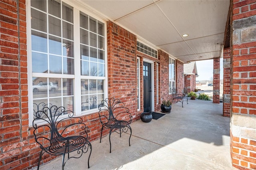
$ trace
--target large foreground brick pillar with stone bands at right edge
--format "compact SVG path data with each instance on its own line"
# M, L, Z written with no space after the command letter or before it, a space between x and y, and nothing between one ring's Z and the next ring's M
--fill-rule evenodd
M230 152L234 167L256 169L256 2L233 4Z

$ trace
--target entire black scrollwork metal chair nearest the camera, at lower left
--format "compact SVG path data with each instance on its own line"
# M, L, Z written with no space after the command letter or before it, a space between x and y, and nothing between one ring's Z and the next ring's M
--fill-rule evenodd
M88 127L82 123L82 118L73 116L74 112L57 106L44 107L36 112L36 118L33 120L34 137L42 149L38 160L38 170L44 152L55 156L62 155L62 170L64 170L67 160L80 158L83 153L88 152L89 147L88 168L90 168L92 145L87 140ZM83 136L75 136L76 134ZM69 153L74 151L78 156L70 157ZM68 154L66 161L65 154Z

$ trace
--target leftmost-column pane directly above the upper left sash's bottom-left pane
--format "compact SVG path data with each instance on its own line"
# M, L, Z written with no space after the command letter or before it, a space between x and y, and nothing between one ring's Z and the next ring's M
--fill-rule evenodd
M47 35L36 31L31 31L31 33L32 50L47 52Z

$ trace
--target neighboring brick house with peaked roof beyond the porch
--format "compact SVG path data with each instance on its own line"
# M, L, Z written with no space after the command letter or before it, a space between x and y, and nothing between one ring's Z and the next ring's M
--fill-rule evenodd
M196 62L184 64L184 87L188 89L188 92L195 90L197 76Z

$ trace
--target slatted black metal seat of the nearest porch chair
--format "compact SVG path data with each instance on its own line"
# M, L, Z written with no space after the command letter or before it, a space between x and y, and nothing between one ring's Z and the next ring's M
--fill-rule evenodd
M50 140L51 146L44 148L46 152L52 155L61 155L73 152L82 148L86 144L86 138L83 136L57 137Z

